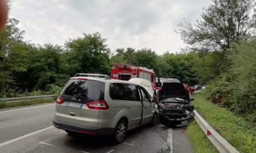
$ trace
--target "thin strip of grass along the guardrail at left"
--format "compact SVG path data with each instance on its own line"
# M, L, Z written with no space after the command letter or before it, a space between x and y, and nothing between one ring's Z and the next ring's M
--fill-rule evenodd
M54 103L55 99L52 100L32 100L32 101L21 101L18 103L6 103L5 101L0 101L0 109L9 108L9 107L20 107L28 106L32 104L42 104L42 103Z

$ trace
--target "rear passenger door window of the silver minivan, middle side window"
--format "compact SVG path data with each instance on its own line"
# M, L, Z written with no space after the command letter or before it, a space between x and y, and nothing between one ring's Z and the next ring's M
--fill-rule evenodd
M140 94L138 89L133 84L124 84L126 88L126 100L129 101L140 101Z

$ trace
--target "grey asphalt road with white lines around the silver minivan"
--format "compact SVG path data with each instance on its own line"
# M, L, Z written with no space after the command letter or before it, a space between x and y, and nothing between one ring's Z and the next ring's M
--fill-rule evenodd
M171 152L194 152L186 128L142 126L113 145L108 137L71 137L52 126L53 114L52 103L0 109L0 152L158 152L165 143Z

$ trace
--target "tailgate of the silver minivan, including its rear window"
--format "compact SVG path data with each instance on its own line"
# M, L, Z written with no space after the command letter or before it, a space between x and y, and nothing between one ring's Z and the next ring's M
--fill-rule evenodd
M69 124L98 127L99 109L89 109L87 104L104 100L105 83L96 80L71 79L66 83L56 104L55 118Z

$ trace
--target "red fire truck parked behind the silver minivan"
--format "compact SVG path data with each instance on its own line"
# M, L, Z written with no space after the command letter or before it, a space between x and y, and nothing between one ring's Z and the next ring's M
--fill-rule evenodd
M128 64L116 63L111 68L111 78L117 80L130 80L130 78L144 78L151 81L155 90L155 72L146 67L130 66Z

